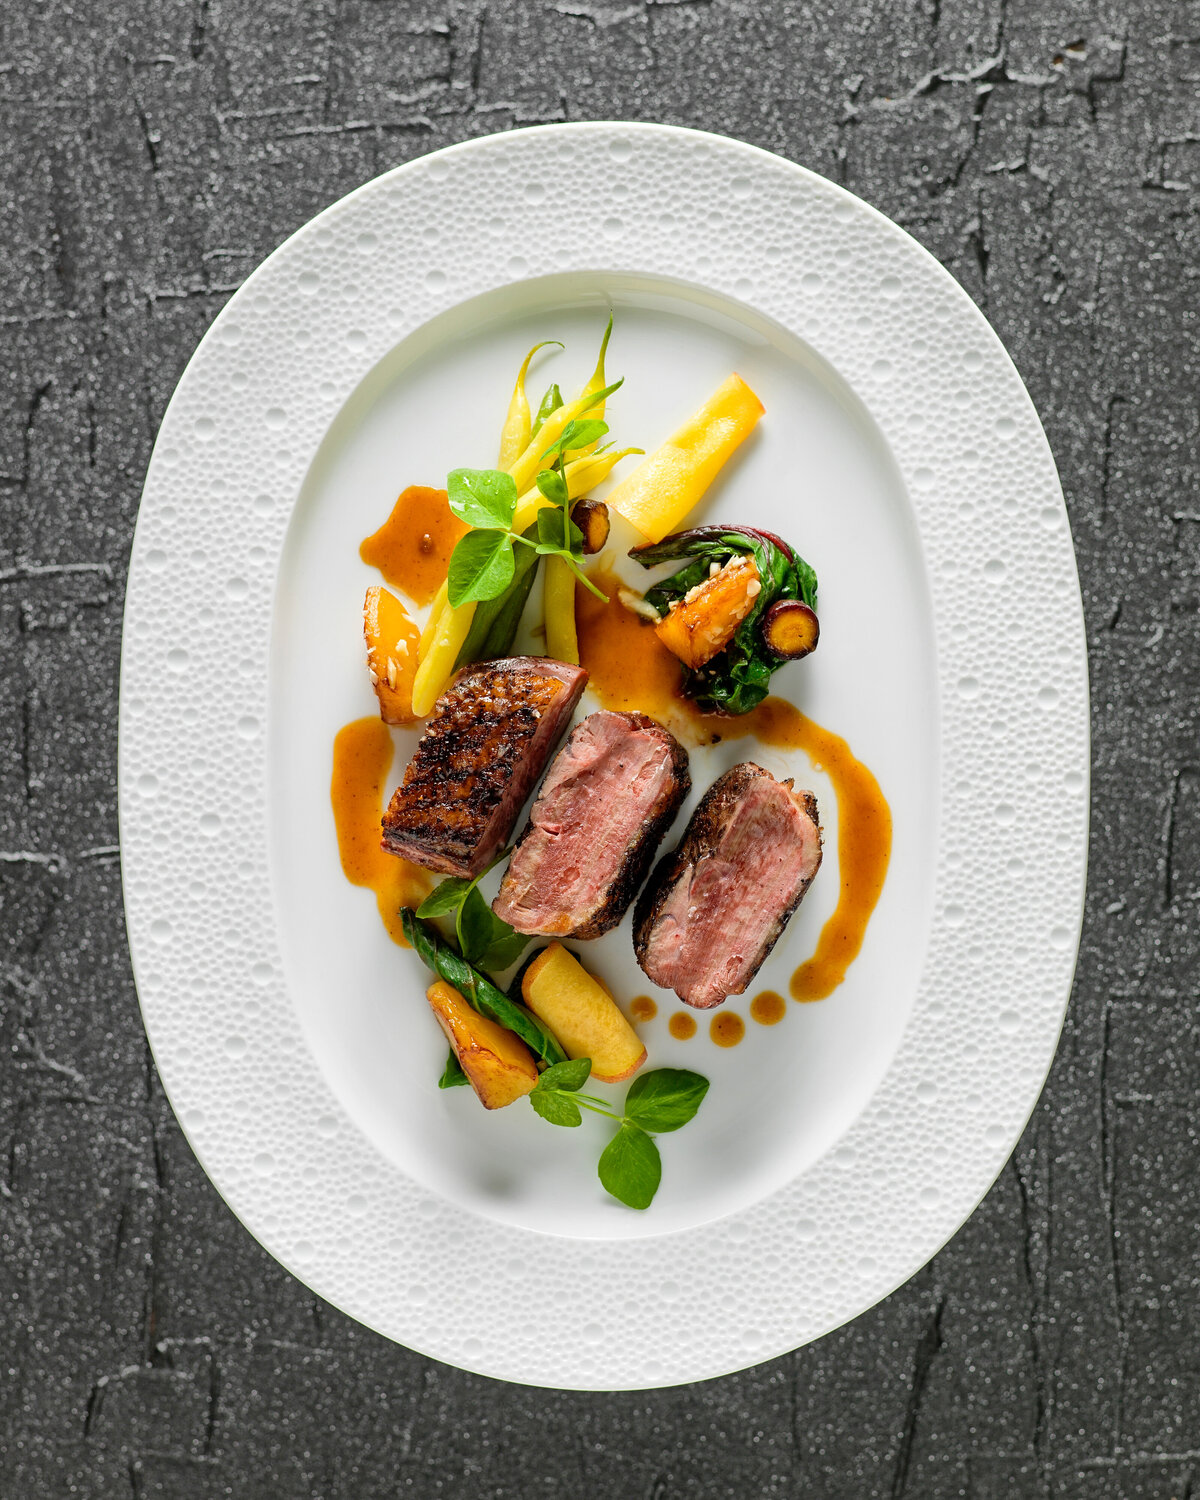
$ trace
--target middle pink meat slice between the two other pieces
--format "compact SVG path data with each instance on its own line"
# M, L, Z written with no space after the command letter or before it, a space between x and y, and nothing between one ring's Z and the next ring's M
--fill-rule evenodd
M645 714L588 714L546 772L492 902L519 933L598 938L628 910L692 789L687 750Z

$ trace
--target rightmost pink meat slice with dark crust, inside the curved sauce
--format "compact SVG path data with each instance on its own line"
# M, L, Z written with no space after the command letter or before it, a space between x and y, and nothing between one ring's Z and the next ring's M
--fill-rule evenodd
M741 994L819 867L813 794L742 760L710 786L642 891L638 962L698 1010Z

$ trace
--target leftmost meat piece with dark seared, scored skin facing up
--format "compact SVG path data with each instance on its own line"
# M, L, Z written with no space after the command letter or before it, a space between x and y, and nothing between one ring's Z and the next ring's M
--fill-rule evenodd
M382 846L476 876L504 848L588 674L549 657L465 666L434 706L382 818Z

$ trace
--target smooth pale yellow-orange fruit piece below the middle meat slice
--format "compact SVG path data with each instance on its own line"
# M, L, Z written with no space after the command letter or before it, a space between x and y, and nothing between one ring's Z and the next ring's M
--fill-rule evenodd
M561 942L552 942L534 958L520 993L568 1058L591 1058L592 1077L602 1083L620 1083L646 1060L642 1038L614 998Z

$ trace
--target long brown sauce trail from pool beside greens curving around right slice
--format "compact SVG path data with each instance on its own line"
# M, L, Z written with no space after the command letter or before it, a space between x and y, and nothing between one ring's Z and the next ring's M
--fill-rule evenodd
M756 735L764 744L804 750L832 782L840 894L832 916L820 932L816 952L796 969L790 982L796 1000L825 999L842 984L858 957L888 873L891 808L879 783L840 735L822 729L782 698L768 698L738 718L700 714L680 696L680 663L662 645L652 626L618 600L616 576L600 568L592 582L609 596L609 602L604 604L588 590L578 590L579 660L591 674L588 686L604 708L639 708L692 744Z

